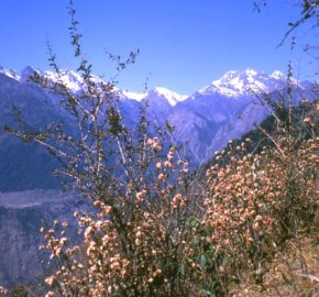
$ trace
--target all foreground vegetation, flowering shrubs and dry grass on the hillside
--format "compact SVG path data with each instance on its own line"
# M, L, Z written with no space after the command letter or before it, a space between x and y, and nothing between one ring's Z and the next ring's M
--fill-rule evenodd
M42 229L53 273L13 296L318 295L318 102L274 113L271 129L217 153L206 177L156 136L129 155L136 167L122 180L72 164L95 207L75 212L84 242L70 244L63 222Z

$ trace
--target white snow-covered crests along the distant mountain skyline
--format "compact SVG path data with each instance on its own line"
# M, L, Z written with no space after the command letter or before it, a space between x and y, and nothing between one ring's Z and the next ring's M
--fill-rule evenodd
M82 79L81 76L68 69L62 69L59 74L53 70L40 70L33 66L26 66L21 72L4 68L0 66L0 73L14 78L18 81L26 82L28 79L34 74L43 75L45 78L56 82L59 80L65 84L72 91L79 91L81 89ZM92 75L92 80L99 84L106 84L106 81L99 76ZM301 81L296 78L290 78L293 85L298 85L304 88L304 85L309 84L308 80ZM164 97L170 106L175 106L189 98L194 98L196 94L202 95L222 95L231 98L239 98L241 96L252 92L271 92L275 89L283 88L287 77L279 70L274 70L272 74L266 74L261 70L246 68L245 70L229 70L224 73L220 78L212 80L209 85L200 88L191 95L179 95L178 92L167 89L165 87L154 87L144 92L135 92L131 90L117 89L121 98L141 101L145 96L150 94L156 94Z

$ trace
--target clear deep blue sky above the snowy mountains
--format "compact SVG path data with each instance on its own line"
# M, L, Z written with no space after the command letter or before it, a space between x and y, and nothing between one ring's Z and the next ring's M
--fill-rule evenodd
M140 48L136 64L119 77L119 87L142 91L167 87L191 94L230 69L286 72L293 61L295 76L314 79L315 61L299 47L316 44L309 26L276 48L287 23L296 20L295 0L268 0L257 13L253 0L75 0L84 34L82 48L94 70L106 78L114 65L105 51L128 55ZM67 0L1 0L0 65L47 69L46 40L62 68L75 68L69 45Z

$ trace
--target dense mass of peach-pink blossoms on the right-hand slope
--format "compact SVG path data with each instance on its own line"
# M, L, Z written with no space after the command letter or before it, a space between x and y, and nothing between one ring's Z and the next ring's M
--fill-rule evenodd
M220 285L224 274L228 280L240 280L248 272L262 283L265 264L286 240L318 227L319 138L275 141L277 147L237 156L246 140L229 152L229 164L207 172L201 245L213 254Z

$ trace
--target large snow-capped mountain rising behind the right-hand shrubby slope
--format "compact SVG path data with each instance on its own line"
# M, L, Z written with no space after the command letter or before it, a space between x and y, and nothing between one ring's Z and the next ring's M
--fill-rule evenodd
M316 98L309 81L290 78L290 86L293 105L298 105L305 95L309 100ZM267 75L253 69L226 73L176 106L170 116L176 139L189 143L191 155L199 163L205 162L228 141L255 129L270 114L263 101L265 94L287 97L287 77L280 72Z

